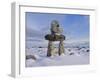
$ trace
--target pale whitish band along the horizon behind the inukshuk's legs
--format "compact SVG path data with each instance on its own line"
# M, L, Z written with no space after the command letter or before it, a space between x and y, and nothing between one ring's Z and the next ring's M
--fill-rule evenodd
M58 47L59 44L54 44L55 47ZM34 41L26 41L26 48L47 48L48 47L48 41L42 41L42 42L34 42ZM89 48L89 41L81 41L81 42L72 42L72 43L66 43L64 42L64 47L87 47Z

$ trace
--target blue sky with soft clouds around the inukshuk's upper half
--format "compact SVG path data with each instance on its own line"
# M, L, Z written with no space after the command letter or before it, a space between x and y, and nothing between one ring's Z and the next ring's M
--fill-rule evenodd
M63 28L66 41L89 41L89 15L26 13L26 39L31 41L45 40L50 33L52 20L57 20Z

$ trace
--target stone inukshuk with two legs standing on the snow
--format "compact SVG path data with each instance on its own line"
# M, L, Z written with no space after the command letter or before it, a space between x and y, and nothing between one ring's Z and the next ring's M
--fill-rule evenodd
M48 49L47 49L47 56L52 56L53 51L53 42L59 41L59 49L58 54L64 54L64 43L65 36L62 35L63 29L60 27L59 22L56 20L53 20L51 22L51 34L47 34L45 36L45 39L48 40Z

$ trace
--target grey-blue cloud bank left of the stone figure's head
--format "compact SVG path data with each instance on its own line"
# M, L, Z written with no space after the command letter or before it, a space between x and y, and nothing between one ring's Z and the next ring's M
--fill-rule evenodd
M26 28L26 41L44 41L45 40L45 35L49 34L49 29L48 27L45 27L43 29L31 29L31 28Z

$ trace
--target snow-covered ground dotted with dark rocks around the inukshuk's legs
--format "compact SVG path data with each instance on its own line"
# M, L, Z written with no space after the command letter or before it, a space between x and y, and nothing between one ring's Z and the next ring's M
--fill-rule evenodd
M57 49L56 49L57 50ZM26 48L26 67L89 64L89 47L65 47L65 54L47 57L47 48ZM36 59L34 59L34 57Z

